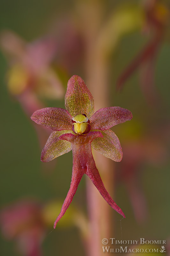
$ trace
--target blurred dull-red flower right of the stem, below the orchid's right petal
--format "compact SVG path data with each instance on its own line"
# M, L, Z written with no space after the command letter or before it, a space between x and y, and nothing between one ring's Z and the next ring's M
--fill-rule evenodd
M131 133L137 126L130 125ZM124 141L122 162L117 166L117 180L124 182L136 220L144 222L148 216L147 200L144 196L140 177L146 164L158 166L168 159L161 128L152 129L152 134L138 134ZM159 136L158 136L159 134ZM166 133L167 135L167 133ZM133 134L134 136L134 134Z

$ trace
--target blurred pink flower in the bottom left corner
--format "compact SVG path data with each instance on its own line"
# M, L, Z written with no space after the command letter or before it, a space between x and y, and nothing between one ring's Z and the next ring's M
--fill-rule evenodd
M26 256L40 256L44 237L41 206L33 201L21 201L4 208L0 214L3 235L15 239Z

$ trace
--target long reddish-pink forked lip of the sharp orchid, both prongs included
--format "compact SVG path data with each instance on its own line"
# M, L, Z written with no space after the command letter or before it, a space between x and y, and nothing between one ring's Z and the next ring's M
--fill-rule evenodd
M96 168L93 156L92 156L92 147L91 143L96 137L101 137L102 134L99 131L92 131L86 135L75 135L75 134L63 134L60 136L62 140L68 140L71 142L72 152L73 152L73 171L69 192L64 200L60 214L55 220L54 228L56 227L57 222L66 212L69 207L73 196L76 193L78 184L84 174L87 174L92 180L93 184L99 190L100 194L107 201L107 203L120 213L123 217L124 213L113 201L109 193L107 192L104 184L100 178L100 174Z

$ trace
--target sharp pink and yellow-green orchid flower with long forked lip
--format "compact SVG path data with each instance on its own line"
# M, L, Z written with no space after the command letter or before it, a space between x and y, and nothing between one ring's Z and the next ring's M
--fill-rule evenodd
M96 168L92 148L116 162L122 160L119 139L109 128L132 118L129 110L120 107L101 108L94 114L94 100L91 92L80 76L72 76L67 85L65 109L42 108L31 116L37 124L51 128L53 132L41 153L41 161L48 162L72 149L73 169L69 192L65 198L56 223L66 212L78 184L86 174L99 190L106 202L120 213L122 210L107 192Z

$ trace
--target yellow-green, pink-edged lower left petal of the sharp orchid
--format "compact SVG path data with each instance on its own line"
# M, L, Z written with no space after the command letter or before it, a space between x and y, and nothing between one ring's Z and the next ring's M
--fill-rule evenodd
M59 137L72 131L55 131L49 136L45 147L41 152L41 161L49 162L57 156L61 156L71 150L71 143L66 140L59 140Z

